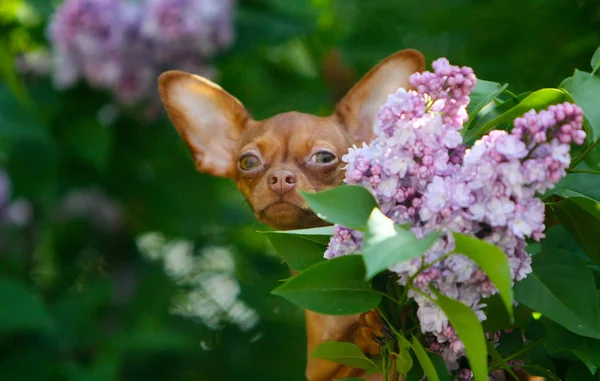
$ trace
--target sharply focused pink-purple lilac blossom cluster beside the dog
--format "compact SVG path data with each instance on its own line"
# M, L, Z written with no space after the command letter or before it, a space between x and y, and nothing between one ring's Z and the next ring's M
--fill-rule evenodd
M399 284L411 285L421 330L430 350L457 369L464 346L444 313L431 301L430 285L470 306L484 320L482 300L497 290L485 273L455 249L452 232L484 239L507 255L513 281L531 272L525 239L544 237L544 204L536 197L552 188L570 164L570 143L582 144L582 110L570 103L532 110L510 133L492 131L467 149L460 130L476 78L445 58L434 72L413 74L416 90L399 89L381 107L376 139L351 148L345 182L363 186L397 224L411 224L422 238L441 231L423 258L392 266ZM362 233L336 226L326 258L362 251ZM463 375L468 373L462 372Z

